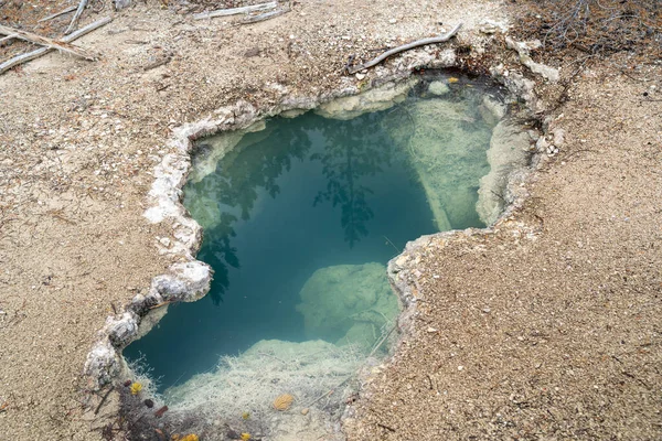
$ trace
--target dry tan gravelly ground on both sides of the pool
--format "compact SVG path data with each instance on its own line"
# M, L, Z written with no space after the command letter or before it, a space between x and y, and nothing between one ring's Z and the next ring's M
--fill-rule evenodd
M0 76L0 439L100 439L83 364L171 263L156 246L170 232L142 212L172 128L238 98L338 88L351 53L505 13L310 0L234 26L160 4L86 12L115 17L78 41L98 62L51 54ZM412 251L418 314L353 405L350 439L662 438L662 84L659 65L627 64L578 78L555 112L566 143L510 219Z

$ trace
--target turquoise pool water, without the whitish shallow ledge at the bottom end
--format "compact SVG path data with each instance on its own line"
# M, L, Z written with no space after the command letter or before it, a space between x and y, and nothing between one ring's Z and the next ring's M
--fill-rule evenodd
M142 356L163 390L263 340L370 352L397 314L387 261L421 235L482 226L493 121L478 88L449 84L439 97L426 86L352 119L309 111L203 140L184 205L204 228L211 291L169 306L127 358Z

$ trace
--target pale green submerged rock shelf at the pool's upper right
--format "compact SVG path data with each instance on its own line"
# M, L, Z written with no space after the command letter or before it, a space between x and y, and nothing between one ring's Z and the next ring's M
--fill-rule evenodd
M471 95L465 98L416 101L384 122L410 155L440 232L480 225L476 191L488 173L490 121L481 118Z

